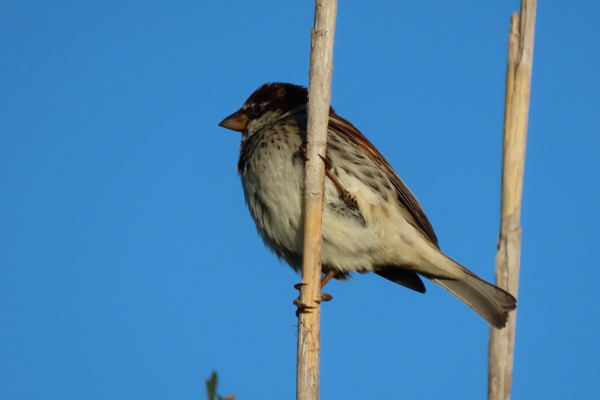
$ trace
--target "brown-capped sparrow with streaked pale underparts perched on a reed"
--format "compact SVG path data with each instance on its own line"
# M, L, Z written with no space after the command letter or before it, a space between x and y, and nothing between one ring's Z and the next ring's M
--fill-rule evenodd
M302 269L308 89L265 83L220 122L242 133L238 173L245 202L266 247ZM517 307L514 296L445 255L421 205L375 146L329 108L323 189L324 282L374 272L425 293L442 286L496 328ZM324 283L323 283L324 284Z

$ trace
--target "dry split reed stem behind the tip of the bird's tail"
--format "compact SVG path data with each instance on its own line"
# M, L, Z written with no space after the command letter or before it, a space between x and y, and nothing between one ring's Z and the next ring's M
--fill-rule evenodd
M521 257L521 199L527 142L527 120L533 62L536 0L521 1L521 13L511 16L506 70L502 206L496 254L496 285L518 294ZM511 398L517 311L505 329L490 328L488 400Z

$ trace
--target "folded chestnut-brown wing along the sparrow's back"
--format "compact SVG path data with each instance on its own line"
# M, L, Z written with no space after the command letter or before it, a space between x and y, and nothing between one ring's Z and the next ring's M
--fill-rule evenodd
M431 226L431 222L427 219L425 212L423 211L421 204L416 200L414 194L411 193L409 188L406 187L402 179L398 176L398 174L394 171L391 165L389 165L388 161L383 157L383 155L373 146L373 143L369 142L369 140L354 127L354 125L350 124L350 122L346 121L346 119L338 116L333 109L329 111L329 129L337 132L341 136L347 137L349 140L354 142L359 148L362 149L364 154L366 154L377 166L388 176L389 181L394 186L396 192L398 193L398 200L403 204L404 207L412 216L413 221L409 221L413 226L418 227L425 236L428 237L431 242L439 248L437 244L436 233L433 231L433 227Z

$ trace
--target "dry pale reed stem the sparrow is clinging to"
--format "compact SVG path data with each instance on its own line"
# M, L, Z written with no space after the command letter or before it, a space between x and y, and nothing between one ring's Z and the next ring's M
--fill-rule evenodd
M319 300L321 291L320 245L325 178L325 166L319 155L325 157L326 151L336 11L337 0L317 0L311 31L308 161L305 164L304 193L304 285L300 290L300 302L314 308L298 317L297 400L319 399L320 306L316 300Z

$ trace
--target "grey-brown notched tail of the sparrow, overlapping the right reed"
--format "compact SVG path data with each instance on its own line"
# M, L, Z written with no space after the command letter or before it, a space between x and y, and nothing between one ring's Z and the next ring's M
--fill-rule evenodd
M494 327L505 327L508 313L517 308L517 299L508 291L484 281L460 264L458 266L464 270L464 278L431 280L463 300Z

